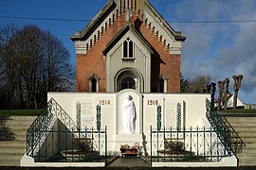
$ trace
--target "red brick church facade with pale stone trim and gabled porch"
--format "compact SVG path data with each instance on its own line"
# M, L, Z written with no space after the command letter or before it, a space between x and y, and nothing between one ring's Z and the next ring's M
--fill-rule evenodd
M179 93L181 32L148 0L109 0L71 40L77 92Z

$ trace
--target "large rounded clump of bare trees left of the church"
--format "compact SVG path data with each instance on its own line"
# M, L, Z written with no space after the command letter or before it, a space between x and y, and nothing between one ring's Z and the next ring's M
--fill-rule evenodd
M2 43L9 101L22 108L46 105L46 93L74 89L75 69L64 44L49 31L25 26ZM13 106L9 106L10 108Z

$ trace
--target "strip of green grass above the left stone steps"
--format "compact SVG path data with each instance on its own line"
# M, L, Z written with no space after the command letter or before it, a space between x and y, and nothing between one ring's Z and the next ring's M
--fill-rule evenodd
M6 116L35 116L41 112L42 110L0 110L0 114Z

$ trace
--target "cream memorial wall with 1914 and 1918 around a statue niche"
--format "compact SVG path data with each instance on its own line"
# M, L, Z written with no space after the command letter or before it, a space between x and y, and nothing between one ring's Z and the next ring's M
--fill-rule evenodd
M161 128L210 127L205 105L210 94L206 93L123 90L119 93L48 93L48 100L50 98L54 98L75 122L80 119L81 128L97 127L97 106L101 106L101 128L107 127L108 150L111 151L118 152L120 144L143 143L149 148L150 127L156 128L157 124Z

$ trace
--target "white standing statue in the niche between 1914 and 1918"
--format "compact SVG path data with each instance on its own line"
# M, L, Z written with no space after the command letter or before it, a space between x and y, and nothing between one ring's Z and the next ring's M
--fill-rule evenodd
M136 107L133 97L129 94L125 96L125 100L121 105L122 109L122 126L126 134L135 133L136 127Z

